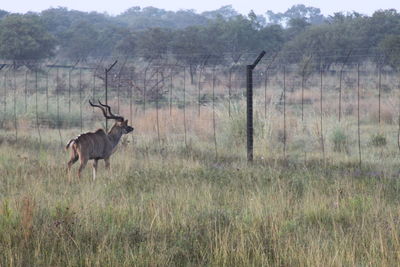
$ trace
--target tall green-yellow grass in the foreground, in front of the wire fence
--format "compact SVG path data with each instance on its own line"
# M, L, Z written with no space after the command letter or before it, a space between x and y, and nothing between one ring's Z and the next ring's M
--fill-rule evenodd
M54 130L55 131L55 130ZM11 133L12 135L12 133ZM0 150L2 266L395 266L400 182L379 164L131 142L68 182L57 132ZM8 141L7 141L8 140ZM23 140L23 142L22 142ZM73 169L76 174L77 166Z

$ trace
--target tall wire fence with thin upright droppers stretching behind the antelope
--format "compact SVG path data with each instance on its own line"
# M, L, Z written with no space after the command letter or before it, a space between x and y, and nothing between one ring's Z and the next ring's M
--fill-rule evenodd
M245 155L245 65L125 59L110 70L112 62L0 64L2 138L18 142L25 134L41 144L55 131L64 144L70 134L104 127L90 99L129 119L137 142L201 143L216 158L243 148ZM256 156L361 164L382 150L397 153L399 78L372 61L325 68L312 56L301 64L266 58L253 78Z

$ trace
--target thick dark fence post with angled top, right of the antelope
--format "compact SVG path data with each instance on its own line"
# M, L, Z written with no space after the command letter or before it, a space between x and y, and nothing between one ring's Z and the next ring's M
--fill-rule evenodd
M246 84L247 84L247 161L253 161L253 70L258 62L265 55L262 51L252 65L246 66Z

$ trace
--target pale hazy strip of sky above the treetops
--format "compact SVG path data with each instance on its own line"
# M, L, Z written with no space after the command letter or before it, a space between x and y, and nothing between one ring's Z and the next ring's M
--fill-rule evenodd
M215 10L224 5L232 5L242 14L248 14L253 9L256 14L265 14L267 10L284 12L296 4L318 7L324 15L338 11L357 11L371 15L378 9L395 8L400 12L400 0L197 0L197 1L162 1L162 0L0 0L0 9L26 13L39 12L50 7L67 7L80 11L107 12L118 15L133 6L154 6L166 10L194 9L197 12Z

